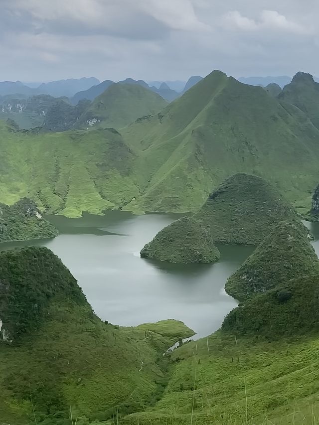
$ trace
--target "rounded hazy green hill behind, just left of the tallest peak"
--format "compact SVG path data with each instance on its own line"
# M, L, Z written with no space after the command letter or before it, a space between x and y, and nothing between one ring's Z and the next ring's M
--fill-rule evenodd
M112 84L79 118L78 127L121 129L145 115L152 115L167 103L159 95L137 84Z

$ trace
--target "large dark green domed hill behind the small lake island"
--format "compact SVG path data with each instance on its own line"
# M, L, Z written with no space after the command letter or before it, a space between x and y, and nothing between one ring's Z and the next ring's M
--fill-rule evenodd
M301 224L273 185L245 173L227 178L194 218L210 230L215 242L223 244L258 245L283 220Z

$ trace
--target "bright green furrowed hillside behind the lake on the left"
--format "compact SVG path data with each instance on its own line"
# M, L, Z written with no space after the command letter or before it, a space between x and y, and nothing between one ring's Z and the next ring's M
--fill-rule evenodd
M0 202L32 198L41 211L78 217L121 208L139 188L135 154L115 130L15 132L0 122Z

